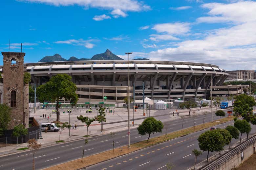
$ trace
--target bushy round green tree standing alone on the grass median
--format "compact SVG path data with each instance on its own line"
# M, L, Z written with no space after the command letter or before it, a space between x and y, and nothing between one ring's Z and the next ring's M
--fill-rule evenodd
M154 117L148 117L139 125L137 128L140 135L144 136L148 134L148 140L151 133L162 132L163 123L160 120L155 119ZM147 141L148 141L147 140Z

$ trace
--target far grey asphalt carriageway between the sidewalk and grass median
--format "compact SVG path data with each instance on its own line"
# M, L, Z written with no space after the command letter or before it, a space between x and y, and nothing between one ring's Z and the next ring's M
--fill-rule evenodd
M169 117L170 116L159 116L159 117L157 117L157 119L165 120L165 119L168 119ZM219 117L214 115L214 119L219 119ZM205 122L209 122L209 121L211 121L211 114L206 114ZM172 120L169 123L170 123L170 126L167 130L168 133L181 130L181 119ZM202 124L202 123L203 123L203 115L196 116L195 124L198 125L198 124ZM192 117L185 118L184 119L184 128L188 128L191 126L193 126ZM197 132L197 133L200 134L201 132ZM165 133L165 131L163 131L162 133L155 133L154 135L152 135L152 137L162 135L163 133ZM131 143L136 143L138 141L142 141L142 140L146 140L146 139L147 139L147 136L140 136L138 134L137 129L131 130ZM179 140L179 139L181 139L181 138L177 138L175 140ZM95 136L95 137L89 138L88 140L89 140L89 143L86 145L85 156L89 156L89 155L93 155L93 154L96 154L96 153L99 153L102 151L110 150L112 148L112 145L111 145L112 141L111 141L111 137L109 136L109 134ZM117 132L115 142L116 142L115 147L127 145L128 144L127 131ZM50 167L50 166L53 166L56 164L60 164L60 163L64 163L64 162L68 162L71 160L81 158L83 143L84 143L84 140L76 140L76 141L72 141L72 142L68 142L68 143L55 144L50 147L41 148L35 154L35 168L43 169L43 168ZM187 143L188 143L188 141L185 141L182 144L187 145ZM192 148L192 146L191 146L191 148ZM133 153L133 154L135 154L135 153ZM142 158L142 159L144 159L144 158ZM156 158L156 159L158 159L158 158ZM144 162L144 163L146 163L146 162ZM166 162L163 162L163 163L166 163ZM8 155L8 156L3 156L0 159L0 170L19 170L19 169L24 170L24 169L31 169L31 168L32 168L32 153L30 151L12 154L12 155ZM91 168L93 168L93 167L91 167ZM104 167L102 167L102 168L104 168ZM100 169L102 169L102 168L100 168Z

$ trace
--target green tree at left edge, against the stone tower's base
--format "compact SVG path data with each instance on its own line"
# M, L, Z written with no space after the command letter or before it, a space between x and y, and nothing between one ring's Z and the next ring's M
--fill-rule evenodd
M11 121L11 108L7 104L0 104L0 136L4 134Z

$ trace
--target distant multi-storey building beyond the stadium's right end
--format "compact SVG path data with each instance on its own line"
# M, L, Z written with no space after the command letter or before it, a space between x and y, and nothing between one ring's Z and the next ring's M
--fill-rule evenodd
M227 80L251 80L255 79L255 70L233 70L229 73Z

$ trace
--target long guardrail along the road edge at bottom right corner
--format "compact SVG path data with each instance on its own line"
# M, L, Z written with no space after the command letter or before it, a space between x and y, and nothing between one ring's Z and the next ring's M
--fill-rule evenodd
M256 135L251 137L247 141L241 143L237 147L231 149L230 151L226 152L224 155L222 155L221 157L217 158L213 162L210 162L209 164L199 168L199 170L214 170L216 167L221 165L223 162L229 160L229 158L232 157L234 154L240 152L241 150L243 150L244 148L248 147L249 145L251 145L255 141L256 141Z

